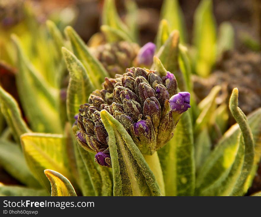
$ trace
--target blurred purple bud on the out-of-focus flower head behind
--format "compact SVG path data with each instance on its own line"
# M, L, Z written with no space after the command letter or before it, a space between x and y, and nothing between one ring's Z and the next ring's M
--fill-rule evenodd
M137 61L140 65L150 66L153 62L153 56L156 50L156 45L152 42L145 44L137 55Z

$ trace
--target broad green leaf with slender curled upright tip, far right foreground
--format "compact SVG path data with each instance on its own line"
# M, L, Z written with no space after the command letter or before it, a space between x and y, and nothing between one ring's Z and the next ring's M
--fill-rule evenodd
M237 98L238 90L234 89L230 110L238 124L224 134L200 168L196 180L197 194L200 196L242 196L249 187L254 144L245 115L237 107Z

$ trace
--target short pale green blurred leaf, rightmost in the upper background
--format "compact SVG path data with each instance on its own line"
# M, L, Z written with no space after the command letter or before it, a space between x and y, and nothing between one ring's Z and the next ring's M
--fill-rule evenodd
M219 26L219 35L217 40L217 58L220 59L225 51L234 48L234 29L230 22L223 22Z

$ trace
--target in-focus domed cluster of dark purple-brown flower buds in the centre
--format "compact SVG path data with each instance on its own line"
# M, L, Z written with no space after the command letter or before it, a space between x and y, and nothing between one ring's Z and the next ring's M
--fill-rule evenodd
M175 76L167 72L127 68L123 75L105 78L81 105L76 138L85 150L96 152L96 162L111 166L108 133L101 121L105 109L127 130L142 154L152 155L173 136L174 128L190 107L190 94L177 92ZM77 117L77 116L76 116Z

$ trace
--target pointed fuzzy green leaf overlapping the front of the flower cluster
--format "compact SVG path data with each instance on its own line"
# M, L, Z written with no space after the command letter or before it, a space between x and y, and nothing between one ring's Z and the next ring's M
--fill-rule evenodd
M114 196L160 196L160 188L125 128L106 110L101 120L109 134Z

